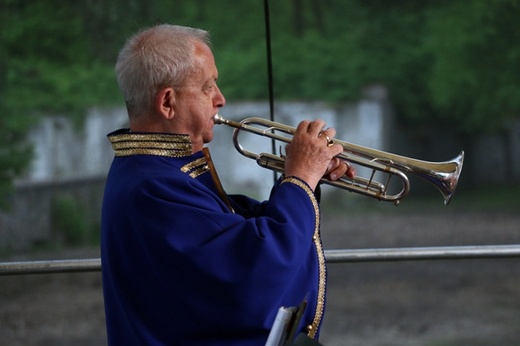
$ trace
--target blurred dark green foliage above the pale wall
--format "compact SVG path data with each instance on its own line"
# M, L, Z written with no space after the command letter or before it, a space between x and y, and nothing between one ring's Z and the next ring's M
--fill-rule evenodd
M276 100L344 102L384 85L401 125L463 135L520 114L519 0L269 6ZM228 101L267 99L264 20L260 0L3 0L0 192L29 161L23 138L39 116L123 104L113 65L145 26L209 30Z

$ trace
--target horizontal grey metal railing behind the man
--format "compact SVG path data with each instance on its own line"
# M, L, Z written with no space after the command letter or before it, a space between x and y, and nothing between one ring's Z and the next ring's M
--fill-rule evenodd
M520 258L520 244L325 250L327 263ZM101 259L0 262L0 276L101 271Z

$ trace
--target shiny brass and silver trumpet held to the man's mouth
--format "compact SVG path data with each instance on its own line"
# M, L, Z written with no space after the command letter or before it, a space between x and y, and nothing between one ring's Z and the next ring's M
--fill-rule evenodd
M271 138L285 143L290 143L296 132L294 127L280 124L263 118L247 118L240 122L228 120L215 114L215 124L224 124L233 127L233 144L237 151L243 156L254 159L261 167L283 173L285 160L282 156L269 153L254 153L245 149L239 142L241 131ZM453 197L462 165L464 162L464 151L452 160L444 162L429 162L387 153L381 150L367 148L337 139L332 139L335 144L343 146L343 152L336 157L340 160L355 163L372 170L368 178L346 175L338 180L331 181L323 178L320 182L337 188L359 193L380 201L393 202L399 205L401 199L405 198L410 191L410 181L405 173L414 174L432 183L444 196L444 205L448 205ZM376 172L387 175L386 182L381 183L374 179ZM389 193L390 180L397 176L401 180L402 188L397 193Z

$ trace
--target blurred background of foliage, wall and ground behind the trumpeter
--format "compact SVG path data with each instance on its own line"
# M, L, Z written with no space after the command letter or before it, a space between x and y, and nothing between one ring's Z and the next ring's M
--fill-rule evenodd
M0 260L99 257L106 134L126 126L113 66L158 23L211 33L225 117L319 117L338 139L435 162L464 150L449 206L415 177L398 207L324 186L326 249L520 244L519 14L516 0L3 0ZM266 198L272 173L215 131L224 188ZM517 345L518 264L329 265L322 342ZM105 343L99 273L3 276L0 297L2 345Z

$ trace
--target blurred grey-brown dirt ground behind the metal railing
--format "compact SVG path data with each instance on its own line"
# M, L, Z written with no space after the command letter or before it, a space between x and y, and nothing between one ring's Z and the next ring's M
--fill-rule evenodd
M326 249L520 244L520 215L370 213L327 217L322 232ZM29 258L2 260L20 259ZM0 276L0 345L97 346L105 340L100 273ZM329 264L321 342L519 345L520 258Z

